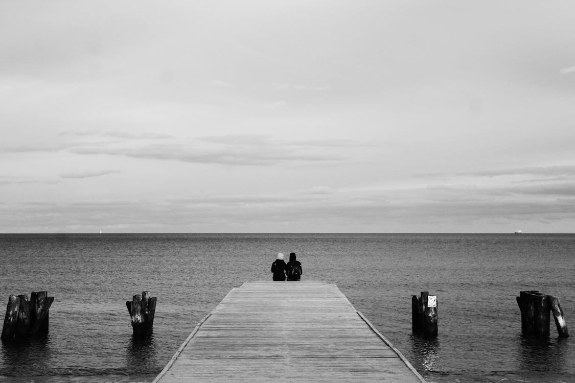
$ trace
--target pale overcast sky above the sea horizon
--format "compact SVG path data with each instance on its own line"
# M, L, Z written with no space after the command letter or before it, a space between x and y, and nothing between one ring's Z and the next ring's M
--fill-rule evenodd
M566 1L0 1L1 233L573 233Z

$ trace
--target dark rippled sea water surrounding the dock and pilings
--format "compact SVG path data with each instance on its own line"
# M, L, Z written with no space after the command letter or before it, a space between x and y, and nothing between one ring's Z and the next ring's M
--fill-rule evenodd
M54 303L45 339L1 345L0 382L150 382L230 289L271 280L278 252L337 284L430 382L575 382L575 338L553 320L549 339L523 336L515 301L559 296L575 333L570 234L3 234L0 298ZM154 334L135 342L125 301L144 290ZM434 340L411 331L423 290L438 296Z

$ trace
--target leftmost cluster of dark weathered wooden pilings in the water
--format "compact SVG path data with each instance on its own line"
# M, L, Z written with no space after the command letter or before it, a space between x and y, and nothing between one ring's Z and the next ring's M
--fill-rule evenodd
M32 292L30 297L10 295L2 327L2 340L24 339L48 332L48 310L54 297L48 292Z

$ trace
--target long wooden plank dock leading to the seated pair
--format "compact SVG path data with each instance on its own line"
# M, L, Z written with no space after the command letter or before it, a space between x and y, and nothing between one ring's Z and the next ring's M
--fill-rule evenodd
M196 326L152 383L425 382L334 284L250 282Z

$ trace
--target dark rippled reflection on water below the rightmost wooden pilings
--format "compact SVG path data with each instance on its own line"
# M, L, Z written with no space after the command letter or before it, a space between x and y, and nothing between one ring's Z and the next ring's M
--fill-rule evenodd
M547 338L534 335L520 335L517 357L522 370L532 372L561 373L568 361L569 338Z

